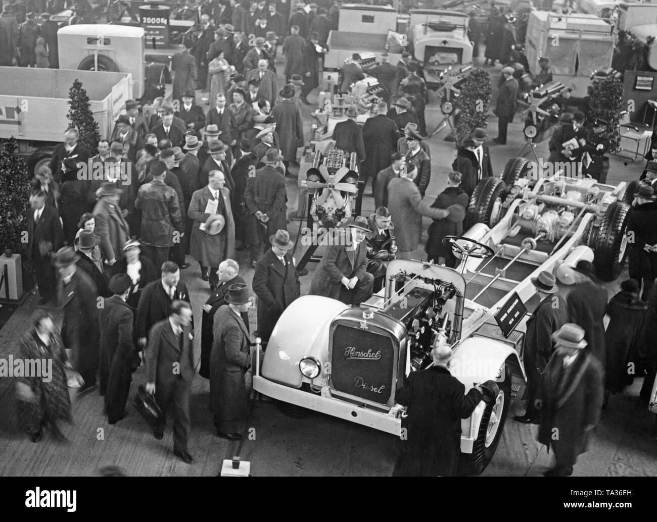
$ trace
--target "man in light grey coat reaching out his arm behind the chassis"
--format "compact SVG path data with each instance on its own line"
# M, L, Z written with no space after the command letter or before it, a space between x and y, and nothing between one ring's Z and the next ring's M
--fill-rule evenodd
M440 208L431 208L422 200L420 189L413 183L417 177L417 167L404 163L400 177L388 183L388 210L395 224L397 239L397 259L411 259L417 249L422 234L422 216L432 219L444 219L449 212Z

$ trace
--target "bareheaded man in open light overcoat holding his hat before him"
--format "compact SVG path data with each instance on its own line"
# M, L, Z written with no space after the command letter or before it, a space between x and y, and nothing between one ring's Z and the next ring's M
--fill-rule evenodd
M222 171L208 173L208 185L194 192L187 217L194 221L190 246L192 257L200 265L203 280L210 281L210 288L214 290L219 263L235 257L235 221ZM212 226L217 217L221 217L224 223L218 232Z

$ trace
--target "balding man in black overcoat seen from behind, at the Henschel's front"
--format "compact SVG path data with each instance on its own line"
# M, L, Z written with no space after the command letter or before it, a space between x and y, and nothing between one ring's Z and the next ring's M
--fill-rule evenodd
M485 381L465 393L465 386L449 372L453 353L449 346L432 347L434 365L411 372L397 390L397 404L390 415L402 418L407 441L397 459L395 477L451 477L457 471L461 452L461 419L468 418L481 401L494 401L499 393L495 381Z

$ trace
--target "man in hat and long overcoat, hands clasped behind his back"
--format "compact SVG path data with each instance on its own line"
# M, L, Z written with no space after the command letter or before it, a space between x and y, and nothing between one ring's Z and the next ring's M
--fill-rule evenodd
M253 176L246 180L244 202L252 215L251 261L256 261L262 253L261 243L276 234L277 230L287 229L287 193L285 177L275 165L283 161L283 156L275 148L270 148L262 158L265 166L256 169Z

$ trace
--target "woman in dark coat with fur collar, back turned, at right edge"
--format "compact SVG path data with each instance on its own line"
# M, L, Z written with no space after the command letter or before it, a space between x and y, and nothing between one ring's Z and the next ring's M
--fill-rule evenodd
M646 303L639 299L639 284L635 279L623 281L620 288L607 305L610 320L604 333L607 355L604 386L611 393L620 393L634 380L635 372L629 371L628 364L636 366L639 354L643 353L648 313Z

